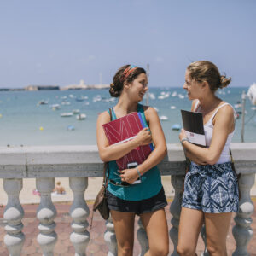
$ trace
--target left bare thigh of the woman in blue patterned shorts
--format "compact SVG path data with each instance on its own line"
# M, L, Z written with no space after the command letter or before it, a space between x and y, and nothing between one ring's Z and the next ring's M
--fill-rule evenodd
M204 213L200 210L182 207L178 227L178 247L195 251L203 224Z

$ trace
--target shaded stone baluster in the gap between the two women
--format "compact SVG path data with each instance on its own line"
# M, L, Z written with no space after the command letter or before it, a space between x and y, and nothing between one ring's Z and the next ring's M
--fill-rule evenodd
M172 186L175 190L174 199L172 201L170 212L172 214L171 224L172 228L169 232L174 246L172 256L178 256L177 254L177 238L178 238L178 224L181 212L181 203L183 199L183 176L172 175Z

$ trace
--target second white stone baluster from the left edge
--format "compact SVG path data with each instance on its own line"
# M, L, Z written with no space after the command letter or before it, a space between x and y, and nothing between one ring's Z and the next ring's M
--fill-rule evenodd
M40 205L37 210L37 218L40 221L38 224L38 243L44 256L53 256L57 241L54 222L57 212L51 201L51 192L55 188L55 178L37 178L36 186L41 194Z

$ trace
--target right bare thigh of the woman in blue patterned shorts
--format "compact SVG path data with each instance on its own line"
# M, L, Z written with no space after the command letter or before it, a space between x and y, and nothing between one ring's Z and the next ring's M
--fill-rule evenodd
M207 247L220 252L225 250L232 212L205 213Z

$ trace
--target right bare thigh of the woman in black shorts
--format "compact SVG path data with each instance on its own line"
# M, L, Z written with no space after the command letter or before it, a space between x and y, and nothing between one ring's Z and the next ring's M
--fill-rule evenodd
M165 209L142 213L140 217L148 235L149 247L168 248L169 236Z

